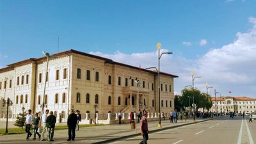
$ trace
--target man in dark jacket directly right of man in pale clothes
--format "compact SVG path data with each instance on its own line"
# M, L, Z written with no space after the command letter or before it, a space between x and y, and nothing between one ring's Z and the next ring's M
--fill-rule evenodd
M48 141L54 141L54 129L56 124L56 116L53 115L53 112L50 111L50 115L46 119L46 127L48 129Z

